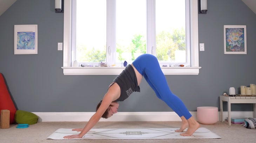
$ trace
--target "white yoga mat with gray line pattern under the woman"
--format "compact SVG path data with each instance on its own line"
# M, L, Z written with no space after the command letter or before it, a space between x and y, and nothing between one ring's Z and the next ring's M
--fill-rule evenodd
M79 140L117 140L117 139L186 139L186 138L221 138L207 128L198 128L192 136L181 136L175 132L178 128L146 128L146 129L91 129ZM186 130L184 130L186 131ZM58 129L47 139L67 140L63 136L79 134L72 129ZM73 140L73 139L72 139Z

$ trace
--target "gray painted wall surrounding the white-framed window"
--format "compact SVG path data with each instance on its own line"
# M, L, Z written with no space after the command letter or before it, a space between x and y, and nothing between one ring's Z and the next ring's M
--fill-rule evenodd
M14 55L14 25L38 25L38 54ZM247 54L224 55L223 25L247 25ZM219 96L240 85L256 83L256 14L241 0L208 0L207 14L198 15L199 75L167 75L171 91L189 111L220 107ZM63 75L63 13L54 0L17 0L0 16L0 73L19 110L29 112L94 112L115 75ZM120 102L119 112L172 111L157 99L143 79L141 92ZM234 104L232 111L252 111L252 104ZM227 104L224 104L227 108Z

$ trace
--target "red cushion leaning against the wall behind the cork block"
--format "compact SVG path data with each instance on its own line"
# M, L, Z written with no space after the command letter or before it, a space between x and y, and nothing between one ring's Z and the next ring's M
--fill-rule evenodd
M9 110L10 124L14 123L16 108L13 104L12 98L9 95L2 73L0 73L0 111L1 110Z

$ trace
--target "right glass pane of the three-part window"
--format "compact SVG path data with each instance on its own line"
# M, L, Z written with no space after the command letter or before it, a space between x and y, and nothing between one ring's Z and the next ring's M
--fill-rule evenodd
M185 0L156 0L156 57L186 62Z

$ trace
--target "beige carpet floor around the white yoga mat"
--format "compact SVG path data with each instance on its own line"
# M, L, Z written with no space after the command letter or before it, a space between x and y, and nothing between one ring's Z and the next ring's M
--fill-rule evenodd
M256 129L247 129L240 125L228 126L217 122L213 125L201 125L221 138L214 139L149 139L149 140L50 140L47 139L60 128L82 128L86 122L39 122L25 129L11 125L8 129L0 129L1 143L255 143ZM95 129L109 128L179 128L180 121L163 122L99 122Z

